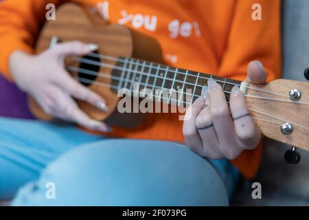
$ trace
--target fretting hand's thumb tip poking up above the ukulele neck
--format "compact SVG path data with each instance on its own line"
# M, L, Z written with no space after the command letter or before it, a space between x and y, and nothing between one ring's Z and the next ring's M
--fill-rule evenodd
M266 83L266 70L260 61L249 63L246 82L253 84Z

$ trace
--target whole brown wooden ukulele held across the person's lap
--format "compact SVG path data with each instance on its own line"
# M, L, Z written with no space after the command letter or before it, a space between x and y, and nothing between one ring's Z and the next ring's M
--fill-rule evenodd
M65 41L95 43L99 47L87 56L69 57L65 61L68 72L80 83L107 100L108 111L76 100L79 107L95 120L104 120L118 126L136 126L144 113L119 113L119 89L132 91L135 83L139 90L181 89L182 97L158 98L165 104L192 104L201 96L207 80L212 78L222 86L227 100L231 88L238 85L247 98L251 116L262 133L274 140L309 151L309 85L306 82L278 79L264 85L217 77L187 69L163 65L161 48L154 39L122 25L108 25L100 15L73 3L61 5L56 20L47 21L36 42L36 53L43 52L55 43ZM205 87L204 87L205 88ZM192 98L184 91L192 89ZM29 97L29 107L37 118L51 120L34 98Z

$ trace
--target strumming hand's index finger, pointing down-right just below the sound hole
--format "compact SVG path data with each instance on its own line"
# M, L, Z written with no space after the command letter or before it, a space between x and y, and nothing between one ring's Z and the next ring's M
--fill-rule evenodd
M62 75L64 75L62 80L57 81L58 85L60 85L62 89L78 100L88 102L104 112L108 111L106 100L104 100L104 98L96 94L91 89L78 83L78 81L69 76L67 72Z

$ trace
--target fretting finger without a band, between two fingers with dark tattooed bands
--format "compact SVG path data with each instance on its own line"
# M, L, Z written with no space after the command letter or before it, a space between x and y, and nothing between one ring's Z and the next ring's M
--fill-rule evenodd
M240 149L236 146L235 130L225 94L215 80L208 80L208 88L210 117L214 123L220 152L228 159L233 159L240 153Z

